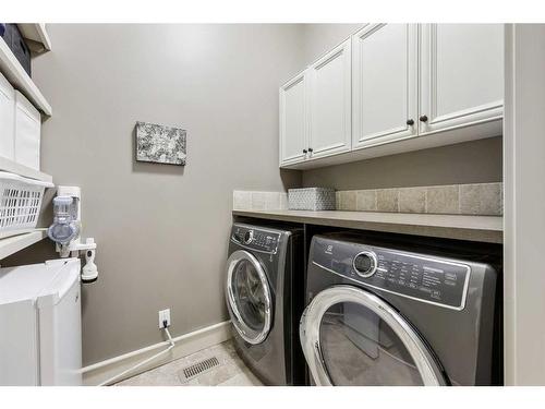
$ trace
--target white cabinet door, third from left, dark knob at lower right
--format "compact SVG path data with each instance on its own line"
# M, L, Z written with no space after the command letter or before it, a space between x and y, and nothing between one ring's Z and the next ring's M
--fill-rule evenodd
M352 36L352 148L417 131L417 26L370 24Z

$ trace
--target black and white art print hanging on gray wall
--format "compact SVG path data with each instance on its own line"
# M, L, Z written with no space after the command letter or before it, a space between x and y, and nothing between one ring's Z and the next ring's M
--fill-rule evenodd
M136 160L184 166L185 137L183 129L136 122Z

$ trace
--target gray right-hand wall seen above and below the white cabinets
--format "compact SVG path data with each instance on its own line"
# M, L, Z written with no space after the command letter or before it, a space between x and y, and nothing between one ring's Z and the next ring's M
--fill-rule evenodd
M311 63L361 26L363 24L304 24L304 64ZM339 190L501 180L500 137L303 171L304 187Z

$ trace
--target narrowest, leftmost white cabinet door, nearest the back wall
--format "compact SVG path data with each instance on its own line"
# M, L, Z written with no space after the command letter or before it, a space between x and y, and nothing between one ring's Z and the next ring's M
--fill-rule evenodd
M303 161L307 149L306 71L280 87L280 166Z

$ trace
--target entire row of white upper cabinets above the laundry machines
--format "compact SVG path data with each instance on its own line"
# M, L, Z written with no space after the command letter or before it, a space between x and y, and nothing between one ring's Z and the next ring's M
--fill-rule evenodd
M501 134L502 24L367 24L280 88L280 166Z

